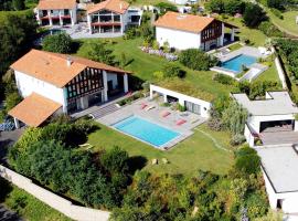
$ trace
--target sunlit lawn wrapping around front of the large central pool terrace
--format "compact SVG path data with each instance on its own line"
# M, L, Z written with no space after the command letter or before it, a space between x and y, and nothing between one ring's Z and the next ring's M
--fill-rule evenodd
M233 162L233 154L231 151L220 149L210 137L199 130L194 130L191 137L172 149L163 151L104 125L99 126L100 129L91 134L88 139L88 143L95 146L95 151L119 146L127 150L130 157L134 157L134 166L138 165L139 169L143 166L142 169L155 173L193 175L199 169L210 170L215 173L226 173ZM221 146L227 149L232 148L228 145L230 135L227 133L212 131L205 125L200 126L199 129L213 136ZM155 158L159 160L159 165L151 165L151 160ZM169 164L162 164L162 158L167 158Z

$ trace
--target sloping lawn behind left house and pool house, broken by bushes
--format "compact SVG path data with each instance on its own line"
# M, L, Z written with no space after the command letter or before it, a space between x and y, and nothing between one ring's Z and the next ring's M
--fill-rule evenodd
M87 56L91 49L91 42L103 41L98 39L94 40L84 40L82 41L82 46L77 51L77 55ZM119 60L120 54L124 53L129 62L125 67L128 71L132 71L134 75L141 78L142 81L153 81L153 73L161 71L163 65L167 64L167 60L149 55L142 52L138 46L141 45L141 39L135 40L123 40L113 39L106 40L108 45L114 50L116 59ZM212 80L213 72L210 71L192 71L187 67L183 67L188 73L185 81L193 84L195 87L202 91L206 91L215 96L220 94L228 94L232 90L231 86L222 85Z

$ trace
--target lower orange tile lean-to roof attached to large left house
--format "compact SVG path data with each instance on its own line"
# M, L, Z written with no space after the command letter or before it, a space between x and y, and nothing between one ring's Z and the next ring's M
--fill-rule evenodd
M9 115L31 127L39 127L62 105L39 94L32 93L13 107Z

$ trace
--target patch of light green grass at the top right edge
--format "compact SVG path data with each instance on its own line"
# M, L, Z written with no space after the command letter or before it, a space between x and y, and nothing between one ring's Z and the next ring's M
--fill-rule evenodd
M273 23L280 29L280 31L298 36L298 24L296 24L298 11L287 11L283 13L284 19L277 18L270 10L267 10L267 14L270 17Z

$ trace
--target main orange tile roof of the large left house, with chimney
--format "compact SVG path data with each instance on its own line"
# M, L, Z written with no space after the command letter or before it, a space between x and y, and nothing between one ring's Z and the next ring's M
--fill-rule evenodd
M67 60L71 60L71 65L67 65ZM64 87L86 67L121 74L130 73L118 67L87 59L39 50L31 50L11 65L11 69L14 71L22 72L57 87Z

